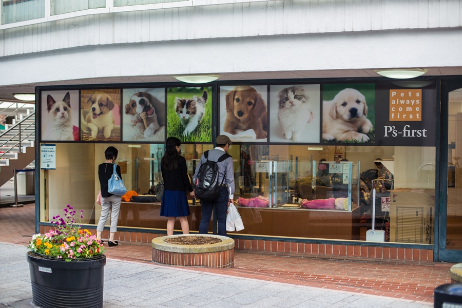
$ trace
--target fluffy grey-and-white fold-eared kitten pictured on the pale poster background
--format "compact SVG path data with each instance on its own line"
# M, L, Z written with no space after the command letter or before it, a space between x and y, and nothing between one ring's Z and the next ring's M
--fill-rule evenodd
M282 133L287 140L300 141L305 124L314 120L305 89L297 86L287 87L279 92L278 98L278 120L282 126Z

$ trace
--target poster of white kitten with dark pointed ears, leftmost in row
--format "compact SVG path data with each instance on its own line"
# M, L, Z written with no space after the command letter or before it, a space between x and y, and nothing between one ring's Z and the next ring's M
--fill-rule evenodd
M79 140L79 90L42 91L42 140Z

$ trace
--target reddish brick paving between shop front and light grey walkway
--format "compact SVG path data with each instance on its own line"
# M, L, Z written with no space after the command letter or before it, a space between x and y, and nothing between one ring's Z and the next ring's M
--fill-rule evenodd
M0 208L0 242L27 244L28 236L34 233L33 221L33 204L22 208ZM108 247L105 254L108 258L150 263L152 249L149 244L121 242L117 247ZM189 269L432 303L434 288L450 283L449 268L452 265L333 260L235 251L234 268Z

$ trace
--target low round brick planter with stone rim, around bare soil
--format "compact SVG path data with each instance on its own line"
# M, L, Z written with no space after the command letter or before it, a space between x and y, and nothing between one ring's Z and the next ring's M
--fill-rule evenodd
M205 236L219 238L222 241L206 245L178 245L165 242L166 239L181 236ZM167 265L233 267L234 240L213 234L178 234L158 237L152 240L152 261Z

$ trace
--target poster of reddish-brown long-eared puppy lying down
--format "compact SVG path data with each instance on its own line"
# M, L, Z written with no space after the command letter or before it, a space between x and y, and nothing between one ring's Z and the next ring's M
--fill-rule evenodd
M220 87L220 134L233 142L266 142L267 86Z

